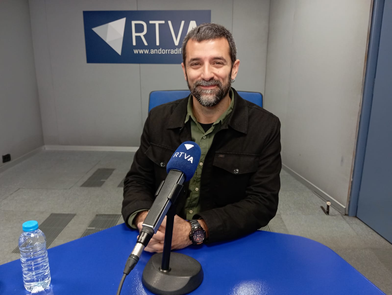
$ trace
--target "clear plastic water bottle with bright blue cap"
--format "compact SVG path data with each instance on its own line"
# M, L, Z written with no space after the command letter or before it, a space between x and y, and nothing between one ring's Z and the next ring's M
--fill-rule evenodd
M35 220L24 222L22 228L19 249L23 282L27 291L36 293L48 288L51 280L46 239Z

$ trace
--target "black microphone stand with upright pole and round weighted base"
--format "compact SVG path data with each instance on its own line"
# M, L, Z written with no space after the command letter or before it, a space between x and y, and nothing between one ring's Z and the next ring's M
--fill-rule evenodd
M174 200L166 213L163 252L152 255L143 270L143 285L155 294L187 294L198 288L203 281L203 269L196 259L177 252L171 253L175 215Z

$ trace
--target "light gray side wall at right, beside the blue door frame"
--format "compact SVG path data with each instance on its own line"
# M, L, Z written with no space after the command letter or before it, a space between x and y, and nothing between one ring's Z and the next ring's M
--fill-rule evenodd
M265 107L282 160L347 204L371 0L271 1Z

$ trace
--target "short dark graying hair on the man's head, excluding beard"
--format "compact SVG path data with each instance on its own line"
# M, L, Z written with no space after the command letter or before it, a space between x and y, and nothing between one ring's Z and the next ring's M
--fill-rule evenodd
M223 25L208 23L201 24L197 27L193 28L189 33L185 36L182 42L182 61L185 65L185 58L187 56L186 47L189 39L195 40L197 42L201 42L204 40L211 40L216 38L225 38L227 42L229 42L229 54L231 58L232 64L236 61L237 56L237 48L236 42L234 42L233 35L231 32L223 27Z

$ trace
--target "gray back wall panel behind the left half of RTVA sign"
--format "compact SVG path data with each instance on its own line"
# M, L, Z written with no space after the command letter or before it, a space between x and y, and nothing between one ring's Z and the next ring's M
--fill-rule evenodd
M30 4L32 15L37 15L33 11L39 3ZM53 93L47 91L48 95L40 97L42 109L49 109L45 128L57 130L57 136L45 136L45 144L57 140L60 145L138 146L142 130L139 65L87 64L85 10L136 10L136 0L46 1L46 44L41 36L45 34L44 25L40 25L43 16L32 19L36 27L33 38L41 47L49 48L48 55L36 54L37 64L46 64L50 58L53 87ZM46 68L37 69L37 76L42 78L38 84L49 89L46 73Z

